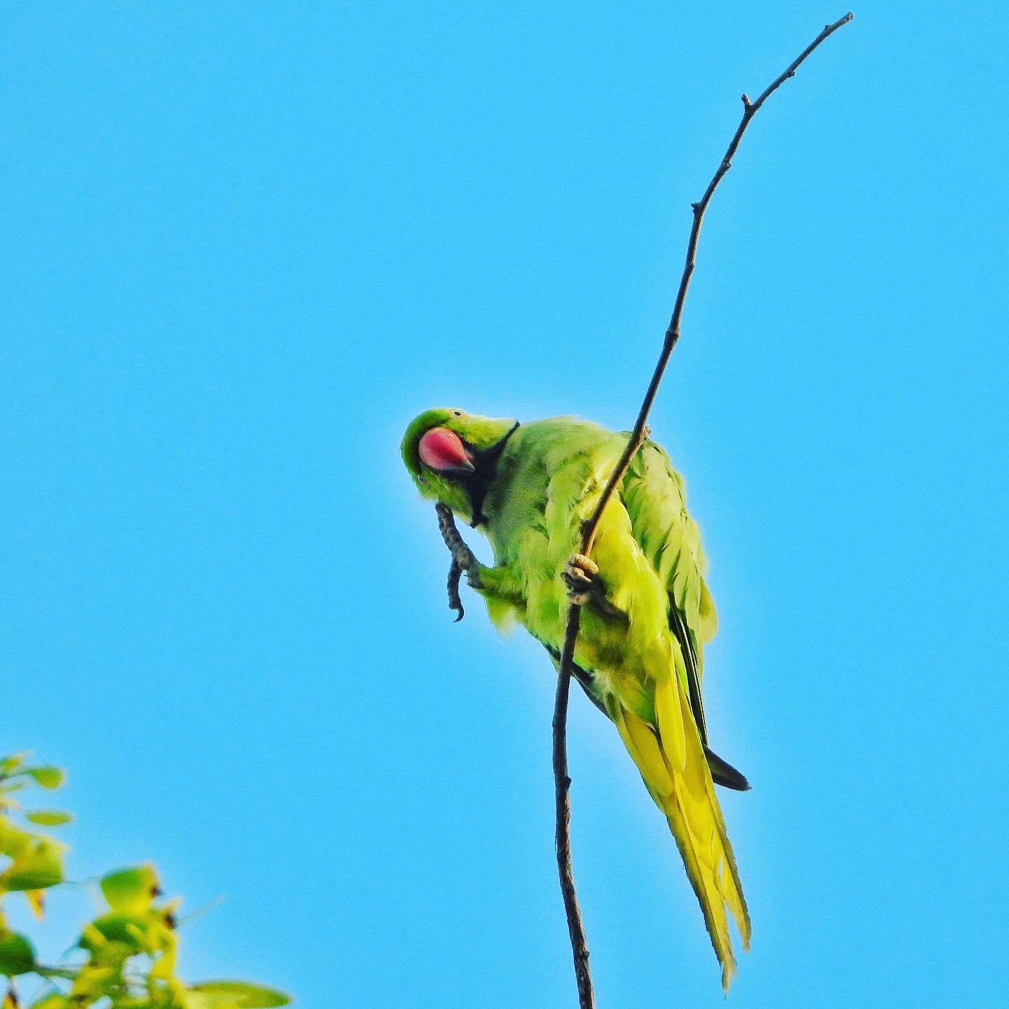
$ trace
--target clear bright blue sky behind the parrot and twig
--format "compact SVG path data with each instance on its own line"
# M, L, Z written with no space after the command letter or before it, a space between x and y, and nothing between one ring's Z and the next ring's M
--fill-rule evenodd
M575 1004L551 669L475 599L452 625L399 439L446 404L630 426L740 94L843 13L4 5L3 749L70 768L80 878L226 895L189 977ZM1004 999L1009 15L856 13L716 195L653 419L755 784L738 1009ZM581 697L571 764L600 1007L723 1004Z

